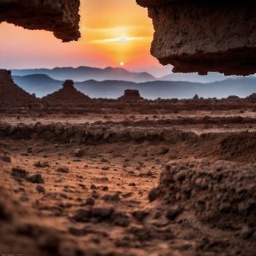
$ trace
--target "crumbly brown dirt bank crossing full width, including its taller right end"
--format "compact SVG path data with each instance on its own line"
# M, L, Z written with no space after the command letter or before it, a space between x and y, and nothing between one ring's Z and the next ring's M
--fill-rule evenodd
M227 132L196 135L174 128L123 127L115 124L4 124L0 122L0 138L13 140L39 139L56 143L151 143L143 147L145 154L152 148L165 146L166 157L223 159L255 162L255 132Z

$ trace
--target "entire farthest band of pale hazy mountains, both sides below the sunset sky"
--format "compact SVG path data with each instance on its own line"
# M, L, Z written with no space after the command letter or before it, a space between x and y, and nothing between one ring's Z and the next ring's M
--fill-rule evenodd
M72 79L75 82L83 82L85 80L122 80L135 83L143 83L154 80L163 81L185 81L192 83L212 83L227 78L238 78L236 76L226 77L225 75L208 72L208 75L198 75L197 73L170 73L160 78L148 72L130 72L120 67L106 67L105 69L97 67L55 67L53 69L12 69L12 75L48 75L54 80Z

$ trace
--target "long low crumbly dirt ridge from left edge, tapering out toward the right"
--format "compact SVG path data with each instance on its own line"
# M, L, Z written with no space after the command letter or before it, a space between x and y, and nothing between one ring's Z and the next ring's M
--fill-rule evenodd
M39 138L60 143L116 143L128 141L193 140L197 135L178 129L123 127L114 124L18 124L0 122L0 137L13 139Z

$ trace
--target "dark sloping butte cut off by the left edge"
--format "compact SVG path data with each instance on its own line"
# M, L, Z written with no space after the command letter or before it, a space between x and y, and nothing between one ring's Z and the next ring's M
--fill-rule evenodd
M36 102L36 98L20 87L12 80L11 72L0 69L0 107L24 107Z

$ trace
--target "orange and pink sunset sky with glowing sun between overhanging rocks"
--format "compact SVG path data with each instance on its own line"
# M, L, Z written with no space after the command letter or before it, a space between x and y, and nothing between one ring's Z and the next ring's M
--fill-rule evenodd
M0 24L0 68L124 67L160 77L171 72L150 55L152 21L135 0L81 0L78 42L50 31Z

